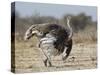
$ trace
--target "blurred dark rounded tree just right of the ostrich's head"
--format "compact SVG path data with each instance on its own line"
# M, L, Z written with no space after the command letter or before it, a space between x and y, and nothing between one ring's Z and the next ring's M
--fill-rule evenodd
M78 32L83 30L87 25L91 25L92 19L91 16L86 16L85 13L80 13L77 16L73 16L71 19L74 31Z

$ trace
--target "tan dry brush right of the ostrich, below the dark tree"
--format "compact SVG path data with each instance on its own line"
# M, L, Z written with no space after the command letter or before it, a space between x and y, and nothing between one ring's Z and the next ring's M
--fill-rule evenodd
M84 30L74 33L74 43L96 43L97 31L94 26L87 26Z

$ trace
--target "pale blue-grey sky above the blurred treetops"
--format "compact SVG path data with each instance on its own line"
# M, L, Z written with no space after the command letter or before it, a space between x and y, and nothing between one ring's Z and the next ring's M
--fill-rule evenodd
M77 15L84 12L88 16L92 16L94 21L97 20L97 7L95 6L78 6L78 5L62 5L62 4L44 4L31 2L16 2L16 10L21 17L31 16L39 13L40 16L62 17L64 14Z

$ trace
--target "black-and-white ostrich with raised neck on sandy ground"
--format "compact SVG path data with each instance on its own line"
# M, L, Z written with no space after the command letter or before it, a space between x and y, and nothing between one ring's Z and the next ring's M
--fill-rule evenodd
M26 31L24 39L28 40L36 36L39 40L38 47L41 48L46 59L44 64L46 67L52 66L51 56L61 55L65 61L72 49L72 28L70 27L70 18L67 18L67 26L65 28L58 24L34 24Z

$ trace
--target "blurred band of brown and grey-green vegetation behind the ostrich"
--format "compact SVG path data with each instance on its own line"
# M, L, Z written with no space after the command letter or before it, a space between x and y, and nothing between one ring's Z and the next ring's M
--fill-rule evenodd
M13 14L12 14L13 15ZM91 16L87 16L85 13L77 15L65 14L61 18L54 16L41 16L39 13L34 13L31 16L20 17L20 13L15 13L15 35L17 41L22 41L25 31L32 24L41 23L57 23L63 26L67 26L67 16L71 16L71 26L74 32L74 42L80 43L84 40L96 42L97 40L97 21L93 21Z

